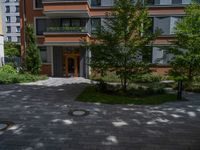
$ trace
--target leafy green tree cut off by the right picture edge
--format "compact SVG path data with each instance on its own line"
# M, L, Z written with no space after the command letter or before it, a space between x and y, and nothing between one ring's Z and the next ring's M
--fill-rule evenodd
M176 25L176 40L170 48L174 54L171 74L178 79L191 81L200 75L200 4L194 1L185 13L185 17Z

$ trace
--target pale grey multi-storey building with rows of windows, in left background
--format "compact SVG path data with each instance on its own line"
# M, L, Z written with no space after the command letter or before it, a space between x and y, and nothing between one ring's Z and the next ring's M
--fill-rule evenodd
M19 0L1 0L4 41L20 43Z

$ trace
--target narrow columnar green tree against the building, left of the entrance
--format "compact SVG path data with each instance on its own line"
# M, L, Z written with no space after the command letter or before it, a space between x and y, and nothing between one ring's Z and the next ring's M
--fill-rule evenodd
M41 58L39 49L36 44L36 37L33 26L26 25L26 54L25 54L25 68L32 74L39 74L41 67Z

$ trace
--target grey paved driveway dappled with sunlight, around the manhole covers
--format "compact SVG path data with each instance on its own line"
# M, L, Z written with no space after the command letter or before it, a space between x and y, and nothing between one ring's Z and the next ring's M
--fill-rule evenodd
M74 101L89 80L0 85L0 150L199 150L200 95L159 106ZM88 116L68 115L86 109Z

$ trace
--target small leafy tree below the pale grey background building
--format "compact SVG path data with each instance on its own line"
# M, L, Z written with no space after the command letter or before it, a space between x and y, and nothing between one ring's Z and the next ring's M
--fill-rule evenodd
M4 44L5 56L20 57L20 45L14 42L5 42Z

